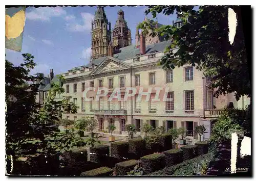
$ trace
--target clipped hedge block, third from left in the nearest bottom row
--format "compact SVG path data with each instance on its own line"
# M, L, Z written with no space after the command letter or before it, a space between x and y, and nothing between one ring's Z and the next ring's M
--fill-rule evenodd
M145 169L144 173L151 173L160 170L165 166L165 156L161 153L149 154L141 158L141 167Z

